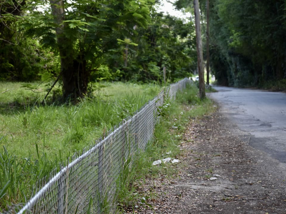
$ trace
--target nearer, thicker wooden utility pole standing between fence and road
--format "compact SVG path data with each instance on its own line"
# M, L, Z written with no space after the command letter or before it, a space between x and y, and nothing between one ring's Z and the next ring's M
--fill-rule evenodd
M196 26L196 38L197 38L200 99L203 100L206 97L206 92L205 92L205 81L204 81L204 70L203 70L203 45L200 33L200 12L199 12L198 0L194 0L194 10L195 10L195 26Z

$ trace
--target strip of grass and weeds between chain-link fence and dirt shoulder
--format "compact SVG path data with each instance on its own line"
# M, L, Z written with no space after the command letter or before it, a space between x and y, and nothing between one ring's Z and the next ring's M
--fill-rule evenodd
M132 213L140 202L142 206L149 206L148 201L156 199L156 195L151 191L147 194L141 191L144 194L140 194L141 184L148 178L155 178L162 174L165 177L174 177L178 172L172 168L171 163L153 166L153 161L167 157L177 158L181 154L178 145L186 125L192 119L211 114L216 108L208 98L200 100L198 87L195 84L179 92L176 100L166 100L164 106L166 108L163 110L161 121L156 126L154 139L149 143L147 150L137 154L137 159L133 163L126 162L132 167L126 167L128 170L124 171L118 182L117 205L121 213L126 211Z

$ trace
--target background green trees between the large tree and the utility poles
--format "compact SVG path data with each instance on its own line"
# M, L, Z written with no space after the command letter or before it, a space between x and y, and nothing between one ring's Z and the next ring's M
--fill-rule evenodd
M127 81L162 82L163 67L166 67L169 81L186 77L196 66L192 23L183 23L178 18L156 12L151 17L152 22L147 28L136 29L133 35L136 45L128 45L126 40L119 43L122 55L119 59L110 58L109 69L120 70L122 80ZM124 55L126 49L128 56Z

